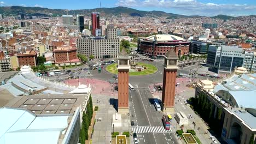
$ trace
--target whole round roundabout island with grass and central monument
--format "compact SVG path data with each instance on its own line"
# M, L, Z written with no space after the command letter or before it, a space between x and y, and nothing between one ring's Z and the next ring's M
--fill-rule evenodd
M130 69L129 75L130 76L142 76L142 75L150 75L156 73L158 71L158 68L156 68L152 64L148 63L142 63L138 62L134 67L141 67L137 69ZM106 67L106 71L112 74L118 74L118 69L117 69L117 63L110 64Z

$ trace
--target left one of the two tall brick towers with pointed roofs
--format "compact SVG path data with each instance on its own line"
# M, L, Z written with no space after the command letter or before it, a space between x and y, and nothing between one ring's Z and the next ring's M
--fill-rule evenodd
M118 113L129 113L130 58L125 49L118 56Z

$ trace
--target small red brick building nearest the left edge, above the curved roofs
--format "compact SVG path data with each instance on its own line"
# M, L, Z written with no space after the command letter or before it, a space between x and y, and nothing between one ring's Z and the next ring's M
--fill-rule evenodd
M37 52L34 50L26 51L26 53L18 54L17 59L19 67L21 67L21 65L36 66Z

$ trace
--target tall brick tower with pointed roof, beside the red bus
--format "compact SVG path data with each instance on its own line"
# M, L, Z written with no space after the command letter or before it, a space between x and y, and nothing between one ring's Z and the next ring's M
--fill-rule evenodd
M165 113L174 112L174 97L176 87L176 74L178 57L173 49L169 50L165 55L164 63L164 80L162 86L162 104Z

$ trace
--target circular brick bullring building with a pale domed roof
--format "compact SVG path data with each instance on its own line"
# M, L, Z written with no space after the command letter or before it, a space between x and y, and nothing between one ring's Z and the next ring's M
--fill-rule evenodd
M138 51L150 56L164 56L171 49L177 56L188 55L189 41L171 34L156 34L138 40Z

